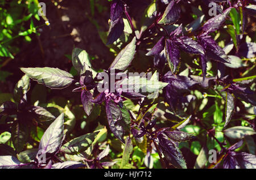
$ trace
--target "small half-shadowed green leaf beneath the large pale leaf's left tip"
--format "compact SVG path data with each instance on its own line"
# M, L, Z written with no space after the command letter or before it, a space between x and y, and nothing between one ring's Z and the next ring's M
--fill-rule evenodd
M30 88L30 78L25 74L15 85L13 97L16 102L19 102L20 99L28 92Z

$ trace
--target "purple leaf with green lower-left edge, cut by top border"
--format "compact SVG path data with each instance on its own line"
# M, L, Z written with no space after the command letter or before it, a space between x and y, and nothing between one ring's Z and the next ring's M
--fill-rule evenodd
M180 18L180 7L176 5L175 1L171 1L166 7L162 19L158 22L159 24L172 24Z

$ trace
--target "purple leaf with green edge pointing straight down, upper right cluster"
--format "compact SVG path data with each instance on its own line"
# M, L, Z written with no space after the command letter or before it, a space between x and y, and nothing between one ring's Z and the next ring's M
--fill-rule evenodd
M180 51L177 46L170 40L166 40L166 56L167 62L173 73L175 73L180 63Z

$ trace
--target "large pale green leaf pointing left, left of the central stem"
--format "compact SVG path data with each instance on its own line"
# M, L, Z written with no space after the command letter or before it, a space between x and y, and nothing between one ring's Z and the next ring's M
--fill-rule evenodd
M71 85L73 76L59 68L20 68L29 78L52 89L63 89Z

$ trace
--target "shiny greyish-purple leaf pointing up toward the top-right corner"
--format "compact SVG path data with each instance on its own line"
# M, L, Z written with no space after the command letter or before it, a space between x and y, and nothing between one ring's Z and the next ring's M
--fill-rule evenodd
M209 19L203 26L203 31L208 31L208 33L218 30L222 24L224 24L226 16L229 14L231 8L227 8L223 14L214 16L212 19Z

